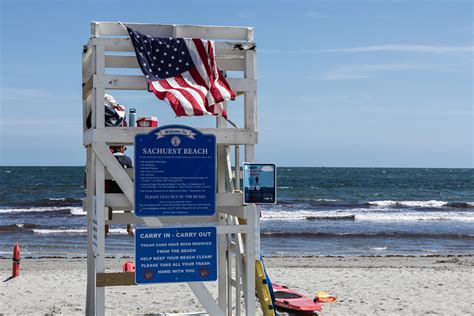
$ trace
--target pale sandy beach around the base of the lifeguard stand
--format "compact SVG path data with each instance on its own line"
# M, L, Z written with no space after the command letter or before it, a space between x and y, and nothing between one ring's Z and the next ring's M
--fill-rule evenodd
M108 259L119 271L125 259ZM474 257L270 257L273 282L313 295L325 290L337 303L320 315L472 315ZM0 260L3 280L11 260ZM208 287L216 290L215 283ZM1 283L0 313L84 314L85 259L24 259L20 278ZM202 311L185 284L110 287L107 314Z

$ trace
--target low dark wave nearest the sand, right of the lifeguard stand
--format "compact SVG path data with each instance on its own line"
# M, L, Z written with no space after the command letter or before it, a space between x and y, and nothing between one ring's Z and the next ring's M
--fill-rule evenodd
M316 238L316 237L337 237L337 238L436 238L436 239L468 239L474 240L474 235L469 234L433 234L433 233L417 233L417 232L355 232L355 233L330 233L330 232L272 232L263 231L260 233L262 238Z

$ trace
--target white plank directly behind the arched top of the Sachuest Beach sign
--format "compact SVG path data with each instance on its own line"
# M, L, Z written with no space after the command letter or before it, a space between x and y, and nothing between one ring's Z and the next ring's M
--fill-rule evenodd
M103 142L108 145L133 145L137 134L148 133L153 128L122 128L106 127L87 130L84 133L84 146L92 143ZM218 144L228 145L246 145L256 144L258 142L258 132L247 131L245 129L233 128L200 128L204 134L213 134L216 136Z

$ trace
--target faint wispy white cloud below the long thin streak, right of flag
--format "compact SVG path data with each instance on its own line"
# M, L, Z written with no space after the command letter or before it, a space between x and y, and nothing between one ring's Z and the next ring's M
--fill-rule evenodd
M357 80L375 77L380 72L431 69L433 65L423 64L368 64L350 65L330 70L323 80Z

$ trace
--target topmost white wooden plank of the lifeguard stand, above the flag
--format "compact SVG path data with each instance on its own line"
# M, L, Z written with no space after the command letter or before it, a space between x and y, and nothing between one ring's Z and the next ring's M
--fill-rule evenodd
M251 27L197 26L177 24L142 24L123 22L136 31L155 37L189 37L206 39L247 40L253 33ZM128 36L117 22L91 22L93 36Z

